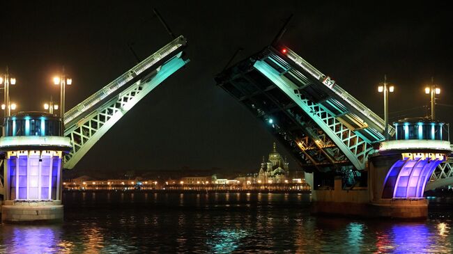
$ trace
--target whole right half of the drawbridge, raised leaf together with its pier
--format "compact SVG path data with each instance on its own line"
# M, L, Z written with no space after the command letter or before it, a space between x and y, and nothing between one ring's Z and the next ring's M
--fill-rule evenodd
M264 48L215 80L305 170L315 214L425 218L423 192L431 175L440 172L429 188L438 180L453 182L445 171L434 171L450 165L443 163L452 150L442 122L415 119L386 127L376 113L284 45ZM385 141L386 130L392 141Z

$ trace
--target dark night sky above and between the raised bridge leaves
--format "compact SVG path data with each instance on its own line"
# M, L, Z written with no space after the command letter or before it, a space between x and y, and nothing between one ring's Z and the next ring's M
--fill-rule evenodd
M443 90L440 103L453 104L453 11L432 2L1 1L0 68L9 65L17 77L11 97L19 110L36 111L51 94L58 100L51 79L65 65L74 80L66 90L70 109L135 65L128 42L141 58L169 42L153 18L158 8L174 33L188 38L191 62L141 100L75 169L257 170L274 139L213 79L238 47L245 50L237 60L261 50L293 13L283 42L379 115L376 84L384 74L396 84L390 112L429 104L423 84L431 76ZM438 118L453 122L452 109L439 106ZM425 109L402 114L424 116Z

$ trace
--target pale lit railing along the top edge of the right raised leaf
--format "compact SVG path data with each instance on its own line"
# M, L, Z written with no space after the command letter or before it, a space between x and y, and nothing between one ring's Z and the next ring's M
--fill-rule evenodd
M327 76L325 76L325 74L314 68L313 65L309 64L307 61L305 61L304 58L300 57L298 54L295 54L295 52L292 51L291 49L286 48L286 50L287 50L286 56L288 56L288 58L290 58L291 61L299 65L300 68L304 69L309 74L312 74L312 76L318 79L318 81L321 81L321 83L325 84L325 79L328 78ZM346 92L346 90L344 90L338 85L335 85L335 81L332 82L333 83L329 85L325 84L325 86L330 88L330 90L332 90L339 97L348 102L348 104L353 106L359 112L363 113L364 116L367 116L367 118L374 122L374 124L376 124L378 127L381 127L383 130L385 129L385 122L382 118L380 118L378 115L376 115L376 113L368 109L367 106L362 104L362 102L359 102L357 99L355 99L355 97ZM389 125L389 133L393 135L394 132L395 132L394 127Z

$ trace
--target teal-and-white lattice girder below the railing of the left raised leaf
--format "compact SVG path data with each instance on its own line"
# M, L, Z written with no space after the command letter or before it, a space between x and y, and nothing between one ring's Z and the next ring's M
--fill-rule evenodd
M174 56L156 69L151 77L136 81L118 96L95 109L89 116L79 120L76 125L65 129L65 136L71 139L72 150L64 157L64 167L73 168L125 113L167 77L182 68L188 60L181 56L182 53Z

